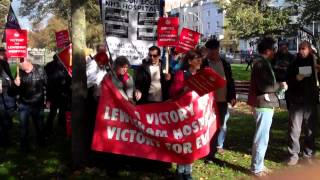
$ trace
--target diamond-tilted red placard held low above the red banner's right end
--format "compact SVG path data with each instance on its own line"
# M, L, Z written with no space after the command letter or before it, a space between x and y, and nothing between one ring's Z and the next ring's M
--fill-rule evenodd
M211 68L205 68L197 72L197 74L191 76L186 81L186 86L193 91L196 91L199 96L212 92L225 85L226 81Z

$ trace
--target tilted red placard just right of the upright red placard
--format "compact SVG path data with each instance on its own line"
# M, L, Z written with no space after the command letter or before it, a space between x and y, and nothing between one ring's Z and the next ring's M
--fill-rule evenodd
M200 33L183 28L180 34L180 39L177 46L177 51L184 53L191 49L194 49L198 44Z

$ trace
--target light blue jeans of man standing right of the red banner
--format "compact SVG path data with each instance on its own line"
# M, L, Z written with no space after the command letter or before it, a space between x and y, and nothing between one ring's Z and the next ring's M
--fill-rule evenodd
M264 170L264 156L269 142L269 132L272 124L274 110L262 112L256 109L254 118L256 121L256 131L252 144L251 171L259 173Z

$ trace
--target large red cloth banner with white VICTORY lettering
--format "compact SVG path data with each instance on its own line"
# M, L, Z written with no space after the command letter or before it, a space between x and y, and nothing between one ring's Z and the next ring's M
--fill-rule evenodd
M101 86L93 150L176 163L209 153L218 126L212 93L134 106L109 78Z

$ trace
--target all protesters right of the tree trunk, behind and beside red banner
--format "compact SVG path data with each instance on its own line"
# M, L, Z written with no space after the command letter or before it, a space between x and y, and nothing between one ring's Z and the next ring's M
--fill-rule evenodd
M164 56L161 56L161 49L152 46L149 48L149 57L135 69L133 77L128 73L130 63L124 56L118 57L113 62L112 73L95 66L87 69L87 74L96 72L96 76L94 73L90 74L96 78L99 74L103 74L102 76L108 74L125 99L134 104L147 104L163 102L189 91L184 82L205 67L217 72L226 80L226 86L215 90L220 126L210 141L210 153L205 158L205 163L214 163L215 154L224 152L229 108L236 105L231 66L220 56L219 48L220 44L216 39L208 40L204 46L184 54L172 48L169 55L170 68L169 71L165 71L165 60L162 59ZM295 56L289 53L286 41L279 42L278 51L275 52L275 41L272 38L262 39L257 50L259 56L253 62L248 95L248 104L252 107L256 122L251 172L256 176L264 176L271 172L264 166L264 158L274 111L279 107L280 94L284 92L289 112L289 158L286 163L289 166L298 163L302 128L305 132L303 157L311 161L315 149L316 107L319 103L319 99L315 97L319 97L317 73L320 66L311 44L306 41L299 45L299 52ZM101 58L90 59L87 65L92 63L92 59L101 61L99 60ZM107 63L106 58L104 59L104 64L111 66L111 63ZM309 70L308 73L305 69ZM100 85L99 82L96 86ZM178 164L176 173L177 179L192 179L192 164Z

